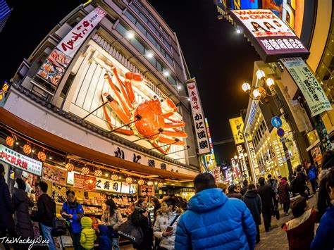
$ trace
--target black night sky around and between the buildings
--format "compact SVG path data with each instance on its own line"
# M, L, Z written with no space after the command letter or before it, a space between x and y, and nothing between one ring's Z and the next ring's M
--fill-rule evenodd
M52 6L39 1L7 0L13 8L0 33L0 80L9 80L49 31L85 1L59 0ZM227 20L218 20L211 0L149 0L176 32L192 77L196 77L213 141L232 137L229 118L247 108L242 82L251 81L259 60L247 39ZM218 163L235 154L234 142L214 147Z

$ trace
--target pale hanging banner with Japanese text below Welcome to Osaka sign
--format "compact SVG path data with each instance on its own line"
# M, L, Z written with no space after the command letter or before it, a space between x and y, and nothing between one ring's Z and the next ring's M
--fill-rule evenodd
M280 60L302 91L312 116L333 109L318 80L302 58L283 58Z

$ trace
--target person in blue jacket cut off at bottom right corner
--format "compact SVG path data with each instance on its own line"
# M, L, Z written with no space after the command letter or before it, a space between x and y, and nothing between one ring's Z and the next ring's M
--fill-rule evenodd
M311 243L311 249L333 250L334 249L334 168L327 176L326 187L330 198L330 206L320 220L316 230L316 237Z

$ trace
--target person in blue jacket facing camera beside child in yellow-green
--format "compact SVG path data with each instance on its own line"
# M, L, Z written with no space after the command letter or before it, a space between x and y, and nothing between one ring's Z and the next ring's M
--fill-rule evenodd
M75 198L75 192L68 190L66 192L67 201L64 201L61 209L61 215L66 218L70 225L70 237L72 238L73 247L75 250L80 250L80 234L81 224L80 220L84 216L85 212Z

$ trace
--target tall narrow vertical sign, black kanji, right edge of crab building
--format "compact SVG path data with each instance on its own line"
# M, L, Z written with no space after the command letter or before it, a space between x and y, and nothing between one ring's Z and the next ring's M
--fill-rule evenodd
M210 146L209 139L206 132L204 114L202 111L202 104L199 99L196 82L187 84L188 96L190 98L190 105L192 106L192 119L194 120L194 135L197 139L197 146L199 154L209 154Z

